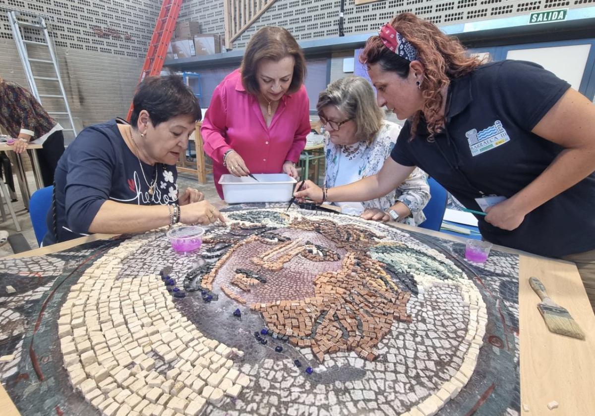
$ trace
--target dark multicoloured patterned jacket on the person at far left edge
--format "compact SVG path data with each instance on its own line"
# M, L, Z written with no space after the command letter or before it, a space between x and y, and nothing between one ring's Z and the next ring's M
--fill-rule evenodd
M12 137L19 133L33 139L48 133L57 122L51 118L29 91L11 81L0 81L0 125Z

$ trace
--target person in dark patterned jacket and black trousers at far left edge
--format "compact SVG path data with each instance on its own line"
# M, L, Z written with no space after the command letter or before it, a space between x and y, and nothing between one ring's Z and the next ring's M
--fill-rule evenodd
M37 153L43 186L54 183L54 171L64 153L62 126L43 109L32 93L0 76L0 125L18 138L14 151L22 153L27 144L41 144ZM11 187L14 190L14 185Z

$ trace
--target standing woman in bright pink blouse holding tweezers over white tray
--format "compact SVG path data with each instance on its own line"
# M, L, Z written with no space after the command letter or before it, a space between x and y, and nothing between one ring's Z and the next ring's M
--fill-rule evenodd
M305 75L296 40L286 29L269 26L252 36L241 67L215 88L201 134L221 198L223 174L284 172L297 178L310 131Z

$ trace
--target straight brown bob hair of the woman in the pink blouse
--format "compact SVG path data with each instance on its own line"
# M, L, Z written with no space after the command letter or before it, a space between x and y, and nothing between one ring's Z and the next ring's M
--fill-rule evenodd
M295 59L292 82L287 90L288 94L293 94L302 87L303 80L306 78L306 58L303 56L302 48L297 45L292 34L283 27L265 26L257 31L246 46L240 66L242 84L246 91L254 95L260 92L256 69L262 59L277 62L286 56L293 56Z

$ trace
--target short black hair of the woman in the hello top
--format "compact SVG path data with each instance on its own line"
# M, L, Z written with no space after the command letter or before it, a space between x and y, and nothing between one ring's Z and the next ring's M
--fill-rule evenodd
M179 115L202 118L201 106L194 92L179 75L146 77L136 89L130 124L136 128L141 111L151 116L153 127Z

